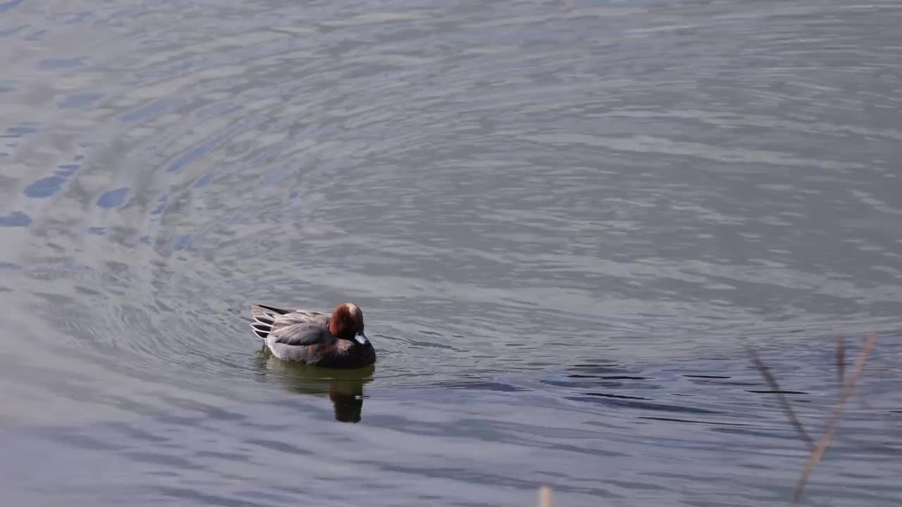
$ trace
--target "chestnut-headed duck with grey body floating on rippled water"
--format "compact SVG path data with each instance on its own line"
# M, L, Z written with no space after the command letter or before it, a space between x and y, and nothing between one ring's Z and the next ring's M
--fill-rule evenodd
M251 328L283 361L326 368L364 368L376 351L364 334L364 312L342 303L331 313L252 304Z

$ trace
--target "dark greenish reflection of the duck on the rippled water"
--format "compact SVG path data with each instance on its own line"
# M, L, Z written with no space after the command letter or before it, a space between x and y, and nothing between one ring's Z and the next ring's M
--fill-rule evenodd
M373 382L375 366L353 370L321 368L282 361L267 346L256 354L259 371L281 383L286 391L323 396L328 394L340 422L360 422L364 408L364 384Z

